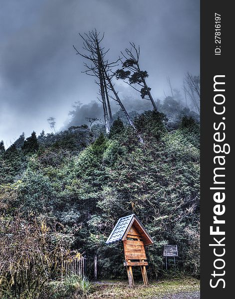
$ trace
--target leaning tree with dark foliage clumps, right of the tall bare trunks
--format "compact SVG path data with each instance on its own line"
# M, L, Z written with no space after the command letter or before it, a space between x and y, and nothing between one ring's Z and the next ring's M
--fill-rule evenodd
M149 76L147 71L142 71L140 69L139 59L140 59L140 46L136 47L133 42L130 42L131 48L125 49L125 54L123 52L122 56L125 58L122 62L122 68L115 72L116 79L122 79L128 85L133 87L141 95L142 99L151 101L153 108L157 111L157 105L151 95L151 88L146 83L146 78ZM135 87L135 85L140 86L140 90Z

